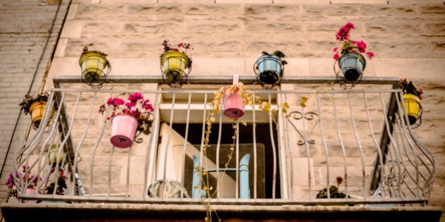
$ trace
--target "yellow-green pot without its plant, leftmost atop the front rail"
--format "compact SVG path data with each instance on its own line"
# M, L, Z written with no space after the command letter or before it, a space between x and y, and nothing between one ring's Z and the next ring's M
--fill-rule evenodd
M105 66L109 66L105 54L100 51L85 51L79 58L82 76L85 82L99 82L104 74Z

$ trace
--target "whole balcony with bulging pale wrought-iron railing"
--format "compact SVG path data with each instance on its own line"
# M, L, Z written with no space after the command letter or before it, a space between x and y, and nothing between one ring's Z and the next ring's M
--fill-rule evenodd
M6 221L23 212L72 221L202 221L209 212L225 220L440 218L440 209L427 206L434 159L406 124L398 79L364 78L353 90L335 90L330 78L286 78L282 90L252 86L270 111L253 104L237 120L218 114L206 153L207 104L230 78L191 78L198 85L182 89L158 87L158 78L111 80L112 89L91 90L78 78L54 78L40 128L13 164L14 173L25 166L42 180L28 193L33 182L14 178L18 199L1 205ZM149 135L121 149L98 110L132 92L153 103L154 122ZM48 192L61 169L63 195L57 185Z

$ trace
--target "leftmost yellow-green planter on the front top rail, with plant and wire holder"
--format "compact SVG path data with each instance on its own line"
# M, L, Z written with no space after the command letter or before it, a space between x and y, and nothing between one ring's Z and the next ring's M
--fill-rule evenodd
M88 51L83 48L79 65L82 71L82 80L92 87L100 87L111 71L111 64L106 58L107 54L101 51Z

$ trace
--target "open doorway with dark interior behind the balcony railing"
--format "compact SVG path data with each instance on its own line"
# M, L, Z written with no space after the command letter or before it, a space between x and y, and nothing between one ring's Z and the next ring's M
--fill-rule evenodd
M267 113L256 109L253 115L253 109L247 107L245 116L239 119L238 124L222 116L221 123L217 121L211 128L207 156L203 156L201 144L206 128L203 124L204 112L208 109L206 104L213 98L211 92L207 95L190 91L163 94L155 179L176 180L192 195L197 188L193 183L195 156L201 161L202 170L209 171L208 187L219 187L218 197L238 198L242 184L239 183L241 178L236 169L240 167L241 159L249 154L249 198L279 198L277 128L275 123L269 123ZM247 124L243 125L241 121ZM237 145L231 155L232 159L228 161L234 125L238 128ZM229 170L225 170L226 164ZM217 180L220 181L218 185Z

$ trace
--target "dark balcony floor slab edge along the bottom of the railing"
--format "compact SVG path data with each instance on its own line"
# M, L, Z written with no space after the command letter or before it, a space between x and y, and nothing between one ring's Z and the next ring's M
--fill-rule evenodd
M223 221L439 221L439 207L213 206ZM1 204L9 221L204 221L205 205ZM213 221L218 221L213 217Z

